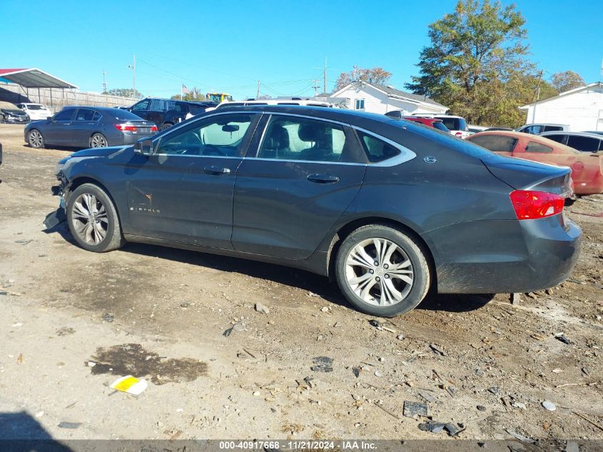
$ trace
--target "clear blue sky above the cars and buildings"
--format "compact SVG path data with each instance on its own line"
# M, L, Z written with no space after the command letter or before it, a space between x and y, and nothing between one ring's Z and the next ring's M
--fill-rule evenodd
M503 4L509 4L503 1ZM136 88L172 96L181 84L227 91L235 99L261 93L312 95L341 71L381 66L403 89L417 74L427 26L453 11L455 0L126 1L0 0L1 68L38 67L83 91ZM600 14L592 1L519 0L532 61L545 78L572 70L598 81ZM595 2L596 4L596 2ZM33 20L32 20L33 19Z

